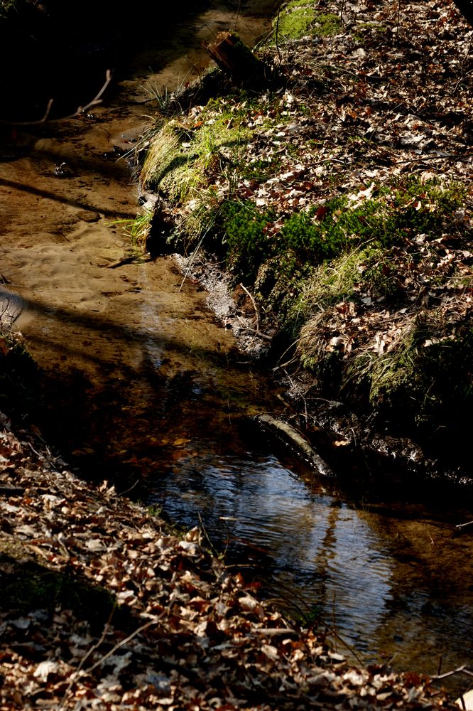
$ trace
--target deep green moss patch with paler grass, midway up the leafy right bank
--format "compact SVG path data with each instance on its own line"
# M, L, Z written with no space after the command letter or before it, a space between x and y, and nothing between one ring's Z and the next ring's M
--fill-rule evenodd
M218 203L212 247L238 281L254 282L263 265L267 271L268 261L276 258L275 279L295 273L298 279L313 277L317 303L321 289L323 301L332 301L342 296L339 284L348 295L348 284L353 289L361 282L371 296L394 298L398 281L391 268L393 248L408 244L403 260L418 259L416 248L411 248L413 237L423 235L426 245L440 237L463 199L463 186L408 178L369 195L362 190L358 196L332 198L288 217L261 210L252 201L224 201ZM281 228L274 230L274 223Z

